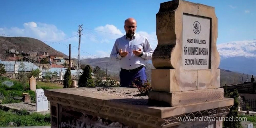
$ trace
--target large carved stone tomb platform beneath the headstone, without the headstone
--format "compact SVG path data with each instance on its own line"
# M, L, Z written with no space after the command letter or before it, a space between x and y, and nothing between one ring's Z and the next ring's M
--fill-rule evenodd
M233 99L224 98L173 107L152 106L136 88L66 88L45 90L51 103L51 128L222 127L222 122L181 121L180 117L223 117Z

